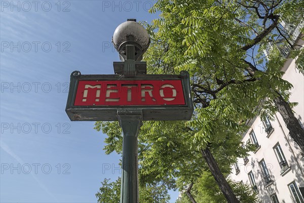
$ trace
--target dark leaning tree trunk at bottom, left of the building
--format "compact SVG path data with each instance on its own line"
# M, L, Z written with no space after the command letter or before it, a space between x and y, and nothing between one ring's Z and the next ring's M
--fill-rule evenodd
M211 171L211 174L213 175L219 189L224 194L226 200L229 203L239 203L240 201L237 199L236 195L234 194L232 188L227 183L226 179L224 178L223 174L220 172L219 167L211 154L210 150L208 148L202 149L202 155L204 159L206 160L209 169Z

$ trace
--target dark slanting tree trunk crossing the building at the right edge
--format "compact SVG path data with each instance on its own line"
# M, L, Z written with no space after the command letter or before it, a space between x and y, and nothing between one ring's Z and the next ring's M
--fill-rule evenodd
M294 116L289 104L284 100L281 94L279 94L279 97L274 99L274 102L278 112L286 123L290 137L296 144L298 144L304 153L304 129L300 126L300 123Z

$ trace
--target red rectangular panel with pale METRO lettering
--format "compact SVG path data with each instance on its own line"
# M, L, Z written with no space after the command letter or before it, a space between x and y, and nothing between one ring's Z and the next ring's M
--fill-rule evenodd
M74 106L185 105L181 80L79 81Z

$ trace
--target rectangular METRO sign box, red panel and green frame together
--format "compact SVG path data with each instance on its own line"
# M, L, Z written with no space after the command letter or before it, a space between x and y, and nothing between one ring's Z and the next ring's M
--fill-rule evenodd
M189 75L81 75L70 78L66 112L72 121L116 121L118 110L142 110L142 120L189 120Z

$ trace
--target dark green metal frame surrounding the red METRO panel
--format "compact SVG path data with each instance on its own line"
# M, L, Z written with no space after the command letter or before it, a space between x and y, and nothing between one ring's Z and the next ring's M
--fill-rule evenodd
M185 105L162 106L74 106L78 83L81 80L181 80ZM118 121L118 110L142 110L142 120L190 120L193 114L189 74L181 71L179 75L146 75L122 77L116 75L81 75L74 71L70 76L66 113L71 121Z

